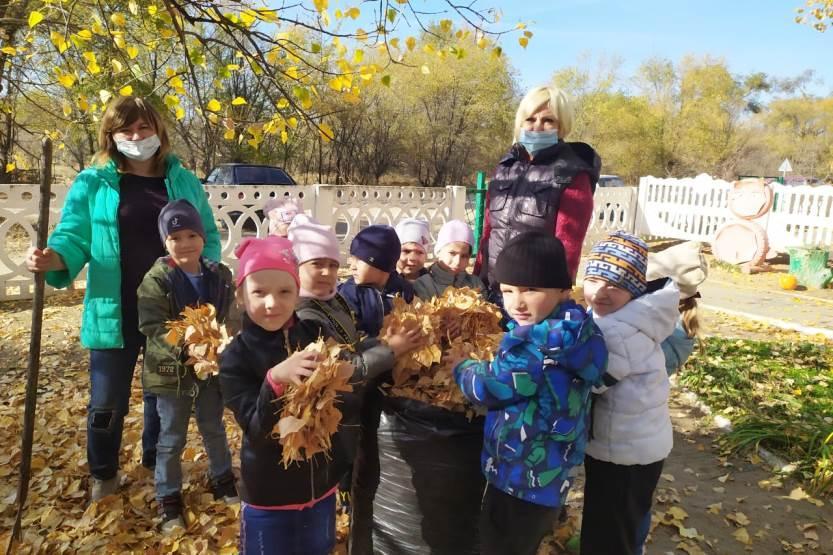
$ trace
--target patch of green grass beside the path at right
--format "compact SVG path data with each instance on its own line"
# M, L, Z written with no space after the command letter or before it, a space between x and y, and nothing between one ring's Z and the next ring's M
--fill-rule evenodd
M733 450L758 445L796 463L816 493L833 493L833 349L709 338L680 376L732 420Z

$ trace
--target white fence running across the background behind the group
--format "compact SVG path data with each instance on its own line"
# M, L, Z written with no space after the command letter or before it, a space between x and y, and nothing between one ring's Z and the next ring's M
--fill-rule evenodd
M687 179L643 177L639 187L599 188L585 248L610 231L710 242L731 219L727 201L731 183L708 176ZM773 210L761 219L776 250L791 246L833 247L833 187L775 184ZM55 226L67 187L53 187L51 226ZM236 266L233 251L241 237L263 236L258 211L274 196L291 196L307 214L333 226L346 254L353 236L371 223L395 224L410 216L428 220L436 236L449 219L472 221L464 187L237 186L206 187L222 235L223 260ZM36 185L0 185L0 300L29 298L32 278L23 266L34 241L38 210ZM568 207L563 207L568 209ZM84 273L75 287L84 287Z

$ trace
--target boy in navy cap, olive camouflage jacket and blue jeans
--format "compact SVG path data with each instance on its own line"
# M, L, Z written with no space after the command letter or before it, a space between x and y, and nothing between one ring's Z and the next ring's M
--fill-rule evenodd
M223 425L223 400L216 376L200 379L181 345L165 341L165 323L179 318L186 306L210 303L217 322L235 319L234 284L225 265L202 256L205 231L197 210L187 200L166 204L159 213L159 235L168 256L156 261L138 289L139 330L147 336L142 386L157 396L161 423L157 445L156 500L161 529L185 527L182 506L182 451L192 409L209 461L215 499L239 501L231 471L231 452ZM236 327L236 326L235 326Z

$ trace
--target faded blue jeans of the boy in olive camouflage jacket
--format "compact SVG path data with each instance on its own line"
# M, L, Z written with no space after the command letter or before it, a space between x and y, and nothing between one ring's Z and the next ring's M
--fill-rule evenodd
M156 446L156 497L161 499L182 489L182 451L188 435L191 409L208 454L208 472L212 480L231 473L231 452L223 424L223 399L220 382L212 377L197 380L192 391L176 395L157 395L156 406L162 430Z

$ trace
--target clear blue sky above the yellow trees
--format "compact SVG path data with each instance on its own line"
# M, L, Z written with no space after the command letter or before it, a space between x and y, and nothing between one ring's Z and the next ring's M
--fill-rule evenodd
M686 54L723 58L736 74L762 71L794 77L813 69L823 80L810 92L833 93L833 30L794 22L803 0L478 0L502 10L504 24L526 21L535 33L526 50L504 48L522 88L549 81L559 68L618 56L629 77L639 64ZM523 6L522 11L519 7Z

